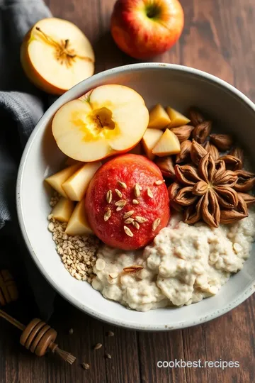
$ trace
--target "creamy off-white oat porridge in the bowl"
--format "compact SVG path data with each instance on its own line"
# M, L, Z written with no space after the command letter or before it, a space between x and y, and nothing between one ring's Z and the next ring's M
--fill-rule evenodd
M105 298L137 311L196 303L217 294L230 275L242 269L254 238L254 210L242 221L219 228L188 226L176 215L143 251L103 245L92 286ZM143 269L123 272L131 265Z

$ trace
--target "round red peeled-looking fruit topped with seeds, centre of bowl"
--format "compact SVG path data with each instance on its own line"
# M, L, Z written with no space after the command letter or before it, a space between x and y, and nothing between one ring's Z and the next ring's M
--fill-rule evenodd
M170 219L169 196L164 183L161 185L154 183L159 179L163 179L159 167L142 155L119 155L98 169L89 184L85 204L89 224L103 243L123 250L143 248L167 225ZM125 182L127 188L120 187L118 181ZM134 192L136 183L142 187L140 197L137 197L140 202L138 205L132 204L132 200L136 198ZM153 198L147 194L148 187L152 191ZM121 191L123 194L121 198L115 189ZM108 190L113 193L110 204L106 201ZM115 202L120 199L127 201L127 204L122 210L116 211ZM104 221L108 208L111 209L111 217L108 221ZM132 223L124 223L124 214L131 210L134 211L132 218L135 216L147 218L147 222L139 223L139 229ZM157 218L161 221L153 231L152 223ZM125 233L124 226L130 228L133 237Z

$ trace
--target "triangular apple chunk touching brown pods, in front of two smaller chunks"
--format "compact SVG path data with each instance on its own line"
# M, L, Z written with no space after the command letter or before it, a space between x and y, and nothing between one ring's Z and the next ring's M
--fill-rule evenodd
M174 155L181 152L181 146L177 136L166 129L162 137L152 149L152 154L164 157L164 155Z

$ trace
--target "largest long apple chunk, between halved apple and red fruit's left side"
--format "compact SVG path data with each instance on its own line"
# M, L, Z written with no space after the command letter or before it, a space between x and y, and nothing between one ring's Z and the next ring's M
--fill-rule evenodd
M69 199L72 201L81 201L81 199L83 199L86 189L89 187L89 182L91 182L96 170L98 170L101 165L101 162L85 164L62 184L62 188Z

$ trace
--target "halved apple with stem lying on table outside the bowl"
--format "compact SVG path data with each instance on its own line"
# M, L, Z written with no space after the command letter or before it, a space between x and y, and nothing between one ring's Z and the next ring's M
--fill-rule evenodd
M26 34L21 64L37 87L63 94L94 74L94 51L84 33L70 21L43 18Z

